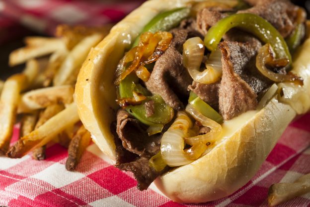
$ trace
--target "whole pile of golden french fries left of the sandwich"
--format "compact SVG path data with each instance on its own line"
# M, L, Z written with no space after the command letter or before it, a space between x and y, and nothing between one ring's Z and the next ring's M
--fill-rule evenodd
M56 37L26 37L26 46L11 52L9 65L25 69L0 82L0 154L20 158L32 151L43 160L46 146L58 142L69 147L66 168L76 168L91 138L79 121L74 87L88 52L110 28L59 25ZM16 122L19 140L10 147Z

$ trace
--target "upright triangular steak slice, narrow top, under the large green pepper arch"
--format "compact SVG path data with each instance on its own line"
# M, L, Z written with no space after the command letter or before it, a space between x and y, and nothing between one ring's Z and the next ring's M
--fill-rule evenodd
M257 106L256 93L234 72L232 53L229 43L221 42L223 76L219 89L220 113L225 120L255 109Z

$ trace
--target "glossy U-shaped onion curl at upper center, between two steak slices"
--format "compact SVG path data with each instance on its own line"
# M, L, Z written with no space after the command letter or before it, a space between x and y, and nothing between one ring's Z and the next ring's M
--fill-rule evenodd
M183 44L183 65L194 81L202 84L215 83L222 76L221 52L220 50L212 52L206 63L206 69L200 72L204 51L204 43L199 37L186 40Z

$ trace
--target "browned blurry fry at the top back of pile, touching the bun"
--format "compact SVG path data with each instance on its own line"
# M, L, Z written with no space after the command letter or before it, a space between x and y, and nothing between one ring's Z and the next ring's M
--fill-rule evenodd
M70 26L67 24L61 24L56 28L56 36L63 37L67 48L71 50L86 36L94 33L100 33L104 36L107 35L112 26L112 24L107 24L101 27L86 27L83 25Z

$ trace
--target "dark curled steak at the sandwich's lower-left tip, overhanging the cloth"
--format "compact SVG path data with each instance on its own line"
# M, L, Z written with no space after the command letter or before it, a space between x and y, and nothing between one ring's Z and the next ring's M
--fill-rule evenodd
M117 113L117 124L111 124L111 131L116 145L115 167L132 172L138 181L138 189L142 191L146 190L156 177L163 173L149 166L151 156L159 151L161 135L156 138L155 136L149 137L145 133L146 130L140 131L142 127L137 126L136 124L139 124L137 122L121 109ZM144 145L146 149L142 150L141 147Z

